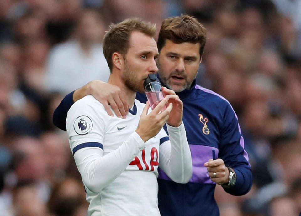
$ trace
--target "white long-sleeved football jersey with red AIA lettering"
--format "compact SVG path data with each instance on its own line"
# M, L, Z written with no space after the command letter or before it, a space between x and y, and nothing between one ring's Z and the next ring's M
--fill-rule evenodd
M100 102L86 96L68 111L70 148L87 191L89 215L160 215L159 158L160 168L173 180L190 179L191 154L183 124L168 126L174 145L163 128L144 143L135 132L144 106L135 100L121 119L109 116Z

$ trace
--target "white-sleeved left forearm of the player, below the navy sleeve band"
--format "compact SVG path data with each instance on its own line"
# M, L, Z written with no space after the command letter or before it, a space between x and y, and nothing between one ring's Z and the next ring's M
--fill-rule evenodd
M114 181L144 148L145 143L134 132L113 152L103 156L101 149L83 148L75 152L74 159L85 186L92 192L99 192Z

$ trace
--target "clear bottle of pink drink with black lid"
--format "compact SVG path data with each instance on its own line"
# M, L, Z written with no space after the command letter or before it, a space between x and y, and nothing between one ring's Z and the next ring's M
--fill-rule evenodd
M148 102L150 103L150 108L153 110L156 105L160 103L161 100L165 97L165 94L162 92L162 86L157 78L156 74L149 74L146 80L143 83L145 94ZM168 103L162 108L160 112L165 110L168 106Z

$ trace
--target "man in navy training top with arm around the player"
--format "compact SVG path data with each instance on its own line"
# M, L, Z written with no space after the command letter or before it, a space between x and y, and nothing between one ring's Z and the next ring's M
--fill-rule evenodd
M205 43L206 29L191 16L162 22L157 42L158 74L162 85L174 90L183 101L183 122L193 162L193 175L187 184L175 183L159 171L158 201L163 216L219 215L214 200L216 184L237 196L248 193L252 186L249 158L235 111L225 98L196 85ZM95 80L66 95L54 112L54 124L66 130L68 109L90 94L103 103L109 115L113 114L112 107L117 116L125 118L128 105L124 93L117 86ZM145 93L137 93L136 98L146 101Z

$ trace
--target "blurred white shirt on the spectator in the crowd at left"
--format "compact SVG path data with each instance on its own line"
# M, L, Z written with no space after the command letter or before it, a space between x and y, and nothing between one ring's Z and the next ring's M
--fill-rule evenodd
M92 80L108 81L110 70L101 44L84 54L78 41L55 46L48 56L45 88L67 94Z

